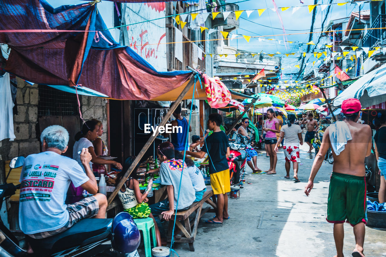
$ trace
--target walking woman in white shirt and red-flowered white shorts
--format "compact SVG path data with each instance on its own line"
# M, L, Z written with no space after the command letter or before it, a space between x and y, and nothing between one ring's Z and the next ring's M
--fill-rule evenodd
M284 141L284 156L286 158L286 176L284 178L289 179L289 169L291 168L291 162L293 162L293 178L295 179L295 182L300 182L298 178L298 162L300 162L300 156L299 156L299 142L300 145L303 145L303 137L301 136L301 128L299 125L294 124L295 122L295 114L289 113L288 114L288 123L281 127L280 130L280 136L279 140L276 143L275 146L275 152L278 152L279 145L283 138L285 137L286 140Z

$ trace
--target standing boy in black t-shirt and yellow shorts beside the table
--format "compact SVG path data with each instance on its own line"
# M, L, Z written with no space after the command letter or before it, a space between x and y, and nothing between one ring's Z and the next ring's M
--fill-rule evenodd
M223 220L228 220L228 196L230 192L229 166L227 157L230 155L229 141L227 135L220 129L222 116L212 113L208 117L208 128L213 133L205 139L205 144L200 152L186 151L186 154L203 158L209 155L210 184L213 194L217 195L217 216L207 220L210 224L222 224Z

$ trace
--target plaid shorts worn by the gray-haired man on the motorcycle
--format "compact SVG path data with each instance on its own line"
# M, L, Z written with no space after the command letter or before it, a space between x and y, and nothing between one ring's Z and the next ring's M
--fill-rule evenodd
M66 210L69 213L69 218L67 223L64 224L63 227L58 228L56 230L30 234L28 236L35 239L42 239L42 238L51 237L53 235L62 233L68 230L69 228L71 228L76 222L84 218L91 218L97 215L99 211L99 204L95 196L89 196L80 200L79 202L73 203L71 205L67 205Z

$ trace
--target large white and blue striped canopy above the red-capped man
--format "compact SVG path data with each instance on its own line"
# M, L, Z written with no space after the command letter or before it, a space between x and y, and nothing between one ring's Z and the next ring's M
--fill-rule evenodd
M386 99L386 64L378 69L364 74L352 83L334 100L334 106L340 107L348 98L357 98L361 101L362 108L382 103Z

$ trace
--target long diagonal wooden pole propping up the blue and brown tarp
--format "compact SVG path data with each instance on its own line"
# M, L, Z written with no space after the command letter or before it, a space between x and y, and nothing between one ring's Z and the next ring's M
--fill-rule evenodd
M188 93L188 91L190 90L190 88L193 86L194 84L194 76L195 74L191 74L191 76L189 77L190 81L188 83L188 85L186 85L186 87L184 88L184 90L181 92L181 94L178 96L178 98L176 99L176 101L174 101L173 105L170 107L170 110L168 111L168 113L166 113L166 115L164 116L164 118L162 119L161 123L159 123L159 127L162 127L166 124L166 122L168 122L169 118L171 117L172 113L174 112L174 110L176 110L177 106L179 104L181 104L181 100L182 98L184 98L184 96L186 95L186 93ZM158 135L158 133L156 133L156 135ZM142 157L144 156L144 154L146 153L147 149L149 149L150 145L154 142L154 139L156 139L156 135L152 135L149 140L147 140L146 144L144 145L144 147L142 148L141 152L139 152L138 156L135 158L134 162L131 164L131 166L129 167L129 169L126 171L125 175L122 177L121 181L118 183L117 187L115 188L115 190L113 191L113 193L110 195L110 197L108 198L108 205L110 205L110 203L112 203L112 201L114 200L115 196L117 195L118 191L120 188L122 188L123 184L126 182L126 180L129 178L131 172L133 172L134 168L137 166L137 164L139 163L139 161L142 159ZM122 171L123 172L123 171Z

